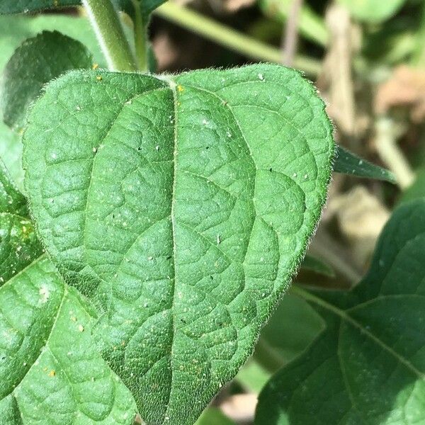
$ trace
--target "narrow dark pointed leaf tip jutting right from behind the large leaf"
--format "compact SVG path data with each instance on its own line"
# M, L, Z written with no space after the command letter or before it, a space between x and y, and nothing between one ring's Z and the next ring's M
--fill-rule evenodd
M390 181L390 183L397 181L391 171L361 159L342 146L336 147L334 172L364 177L365 179Z

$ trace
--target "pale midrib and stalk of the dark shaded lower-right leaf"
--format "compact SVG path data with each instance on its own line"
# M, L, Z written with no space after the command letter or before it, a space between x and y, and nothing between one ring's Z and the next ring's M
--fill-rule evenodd
M304 290L300 288L300 286L293 285L291 288L291 291L295 293L296 295L299 295L303 297L305 300L314 302L314 304L319 305L320 307L323 307L325 310L328 310L329 312L332 312L333 314L336 314L336 316L340 317L340 319L345 320L349 324L353 325L353 327L356 327L359 329L363 334L368 336L369 339L371 339L375 344L380 346L382 349L390 353L393 357L399 361L399 363L402 363L404 366L406 366L409 370L411 370L415 375L418 376L421 380L425 380L425 373L422 373L419 369L415 368L412 363L410 363L406 358L401 356L397 351L395 351L393 348L385 344L385 342L381 341L377 336L375 336L372 332L368 331L363 325L359 322L357 322L356 319L353 319L349 314L347 314L346 311L341 310L339 307L336 307L335 305L332 305L331 303L322 300L322 298L317 297L316 295L313 295L312 293L308 292L307 290ZM356 307L359 307L360 305L356 305Z

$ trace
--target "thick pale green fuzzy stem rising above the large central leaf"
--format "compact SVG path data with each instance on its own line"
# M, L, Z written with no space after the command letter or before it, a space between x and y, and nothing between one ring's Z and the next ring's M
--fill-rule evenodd
M111 0L82 1L109 69L113 71L136 71L134 55L132 55L120 18Z

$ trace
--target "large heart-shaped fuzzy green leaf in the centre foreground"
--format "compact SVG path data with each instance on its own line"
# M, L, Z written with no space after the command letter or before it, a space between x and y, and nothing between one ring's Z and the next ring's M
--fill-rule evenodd
M313 86L271 64L70 72L35 103L24 151L43 243L103 310L95 334L142 419L193 423L317 225L334 142Z

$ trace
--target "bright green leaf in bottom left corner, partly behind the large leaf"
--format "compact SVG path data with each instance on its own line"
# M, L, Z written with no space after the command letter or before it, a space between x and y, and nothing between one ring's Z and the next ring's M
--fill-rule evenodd
M95 322L43 257L0 288L0 424L133 423L130 392L91 339Z

